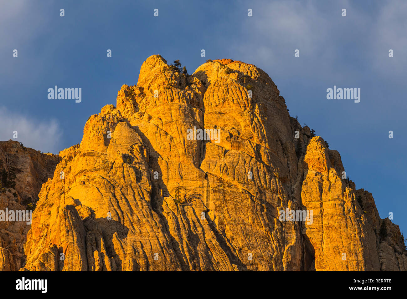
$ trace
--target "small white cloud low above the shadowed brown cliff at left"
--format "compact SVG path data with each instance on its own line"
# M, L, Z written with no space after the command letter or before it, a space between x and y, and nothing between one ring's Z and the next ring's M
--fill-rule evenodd
M55 119L39 121L0 107L0 140L15 140L44 153L58 153L62 130ZM13 139L13 131L18 138Z

